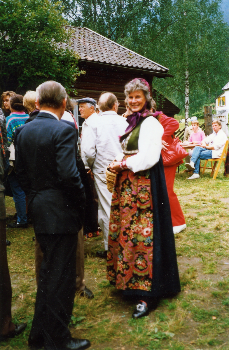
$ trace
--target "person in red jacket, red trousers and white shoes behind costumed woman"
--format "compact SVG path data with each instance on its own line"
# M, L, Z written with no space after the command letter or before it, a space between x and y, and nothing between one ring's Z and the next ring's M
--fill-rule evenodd
M163 147L166 147L166 149L169 150L169 145L171 145L173 142L172 135L178 129L179 122L174 118L165 116L165 114L162 113L160 118L160 123L164 128L164 134L162 136L162 141L164 141L164 143L162 142L162 144L163 144ZM166 167L164 166L165 180L166 180L166 186L168 191L168 198L169 198L169 204L171 209L174 234L179 233L186 228L185 217L183 216L180 203L173 190L173 185L174 185L174 180L176 175L176 168L182 163L183 161L181 160L179 163L176 163L175 165L166 166Z

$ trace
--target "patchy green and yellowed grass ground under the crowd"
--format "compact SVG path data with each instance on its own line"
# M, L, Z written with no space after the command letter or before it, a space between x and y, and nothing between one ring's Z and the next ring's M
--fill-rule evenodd
M85 280L95 299L79 295L71 319L71 333L90 339L91 350L205 350L229 349L229 179L223 166L216 180L209 170L188 181L176 174L175 191L187 229L176 235L182 292L162 299L158 308L140 320L131 319L134 306L106 280L106 263L95 257L103 237L85 242ZM14 214L6 198L8 221ZM27 349L36 296L32 226L7 229L14 322L27 322L26 331L2 342L0 349Z

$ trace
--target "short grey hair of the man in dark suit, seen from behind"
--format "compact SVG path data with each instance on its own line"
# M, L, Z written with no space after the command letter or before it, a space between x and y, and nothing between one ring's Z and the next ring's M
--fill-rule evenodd
M39 85L36 89L36 100L39 100L40 107L59 108L64 98L67 98L66 90L60 83L53 80Z

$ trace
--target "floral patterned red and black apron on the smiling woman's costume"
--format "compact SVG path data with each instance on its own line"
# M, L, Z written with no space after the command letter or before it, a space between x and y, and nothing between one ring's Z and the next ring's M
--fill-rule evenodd
M123 170L112 195L107 279L117 289L151 291L153 204L150 171Z

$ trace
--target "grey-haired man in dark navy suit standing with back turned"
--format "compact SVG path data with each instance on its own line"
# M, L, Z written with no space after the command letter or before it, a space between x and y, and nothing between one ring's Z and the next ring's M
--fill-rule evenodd
M16 144L16 173L43 252L29 346L83 350L90 342L72 338L68 329L76 286L77 232L85 207L76 167L76 133L59 122L67 101L64 87L49 81L36 93L40 113L21 130Z

